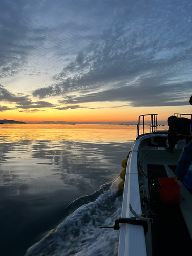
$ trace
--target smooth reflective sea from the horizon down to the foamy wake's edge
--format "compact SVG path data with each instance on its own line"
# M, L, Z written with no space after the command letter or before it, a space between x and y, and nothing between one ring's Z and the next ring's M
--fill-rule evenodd
M3 125L0 254L24 255L65 217L68 204L114 180L131 148L130 131L120 125Z

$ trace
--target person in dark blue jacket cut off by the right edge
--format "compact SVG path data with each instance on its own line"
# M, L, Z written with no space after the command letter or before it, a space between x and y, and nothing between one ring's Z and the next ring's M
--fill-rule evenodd
M189 103L192 105L192 96L190 97ZM192 138L192 115L190 119L190 138ZM185 177L186 173L192 162L192 141L190 141L184 148L179 157L175 174L178 177Z

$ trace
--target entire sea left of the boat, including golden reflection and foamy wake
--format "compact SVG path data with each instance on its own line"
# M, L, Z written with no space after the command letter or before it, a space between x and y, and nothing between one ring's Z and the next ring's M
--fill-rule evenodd
M0 126L0 255L117 255L136 125Z

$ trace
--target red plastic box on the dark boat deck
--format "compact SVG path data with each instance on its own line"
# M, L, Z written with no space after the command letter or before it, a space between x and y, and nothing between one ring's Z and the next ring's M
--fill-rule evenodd
M160 199L164 204L180 204L180 185L173 178L158 178Z

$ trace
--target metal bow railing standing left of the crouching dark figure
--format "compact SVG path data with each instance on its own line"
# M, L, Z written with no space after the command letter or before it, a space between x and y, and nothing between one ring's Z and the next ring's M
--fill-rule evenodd
M138 124L137 124L137 138L139 135L144 134L144 127L146 126L145 117L151 116L150 118L150 133L157 132L157 114L146 114L139 116ZM142 120L141 120L142 119ZM142 126L142 133L140 133L140 125Z

